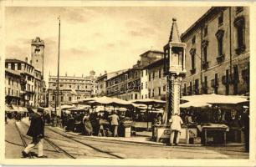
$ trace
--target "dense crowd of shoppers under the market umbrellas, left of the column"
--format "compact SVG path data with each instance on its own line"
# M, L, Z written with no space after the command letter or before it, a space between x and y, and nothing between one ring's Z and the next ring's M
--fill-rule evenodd
M122 136L124 135L125 120L131 120L131 115L123 112L92 112L76 111L62 112L61 116L56 114L45 114L46 124L59 126L67 131L79 132L84 135L95 136Z

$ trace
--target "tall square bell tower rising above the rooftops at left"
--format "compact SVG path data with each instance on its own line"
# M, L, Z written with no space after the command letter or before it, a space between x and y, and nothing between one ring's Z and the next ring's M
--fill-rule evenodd
M38 69L44 77L44 40L38 37L31 42L31 61L33 67Z

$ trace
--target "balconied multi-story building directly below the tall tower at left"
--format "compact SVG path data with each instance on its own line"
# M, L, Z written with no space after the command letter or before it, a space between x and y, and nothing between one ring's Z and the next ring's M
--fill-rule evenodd
M38 107L42 100L44 83L40 71L33 68L28 58L25 61L18 59L6 59L5 68L20 74L20 105L27 107Z

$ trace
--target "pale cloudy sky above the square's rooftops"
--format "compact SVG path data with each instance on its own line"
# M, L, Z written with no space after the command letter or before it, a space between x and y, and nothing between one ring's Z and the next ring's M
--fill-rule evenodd
M162 50L172 18L180 35L209 7L6 8L6 58L30 59L31 39L44 40L44 78L57 74L58 16L60 74L96 75L131 68L141 53Z

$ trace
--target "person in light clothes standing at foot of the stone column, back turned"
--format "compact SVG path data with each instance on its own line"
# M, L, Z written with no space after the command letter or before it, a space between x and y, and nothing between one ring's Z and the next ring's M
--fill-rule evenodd
M175 144L179 144L180 135L182 132L182 118L176 113L172 115L172 119L170 119L171 123L171 139L170 144L172 145L175 139Z

